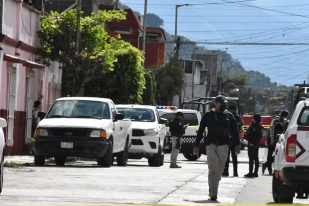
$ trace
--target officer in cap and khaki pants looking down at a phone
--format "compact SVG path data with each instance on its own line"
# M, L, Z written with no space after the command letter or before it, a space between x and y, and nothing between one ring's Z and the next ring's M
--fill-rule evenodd
M186 125L181 123L184 119L184 114L182 112L176 112L175 117L169 123L169 128L172 136L172 151L171 151L171 164L170 168L181 168L177 165L177 156L180 152L180 146L182 144L182 136L185 133Z

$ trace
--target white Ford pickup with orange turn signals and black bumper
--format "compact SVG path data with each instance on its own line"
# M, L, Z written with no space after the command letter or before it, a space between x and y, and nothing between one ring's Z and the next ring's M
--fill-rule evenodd
M111 99L60 98L36 128L34 162L44 165L46 157L54 157L56 165L64 165L66 157L85 157L110 167L116 157L118 166L126 166L131 137L131 121Z

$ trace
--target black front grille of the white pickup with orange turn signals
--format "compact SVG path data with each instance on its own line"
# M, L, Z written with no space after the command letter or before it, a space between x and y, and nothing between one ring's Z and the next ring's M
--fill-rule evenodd
M89 129L86 128L52 128L50 133L53 137L87 137Z

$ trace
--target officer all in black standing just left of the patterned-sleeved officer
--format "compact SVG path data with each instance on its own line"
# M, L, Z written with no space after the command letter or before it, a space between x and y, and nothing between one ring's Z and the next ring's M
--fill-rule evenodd
M260 114L254 114L253 120L250 123L248 130L246 131L246 136L248 139L248 157L249 157L249 173L245 174L245 177L258 177L259 171L259 148L260 140L262 139L264 127L260 124L261 116ZM254 172L253 172L254 163Z

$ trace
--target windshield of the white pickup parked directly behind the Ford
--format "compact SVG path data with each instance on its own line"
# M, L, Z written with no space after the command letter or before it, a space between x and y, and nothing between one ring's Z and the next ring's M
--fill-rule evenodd
M155 113L145 108L117 108L118 112L132 122L155 122Z

